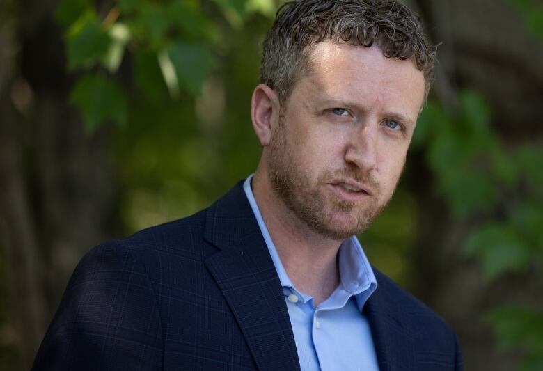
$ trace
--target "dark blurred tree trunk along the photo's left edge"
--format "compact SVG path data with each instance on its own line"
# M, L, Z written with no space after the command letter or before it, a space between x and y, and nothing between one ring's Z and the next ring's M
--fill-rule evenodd
M86 134L67 102L72 78L55 6L26 0L19 24L0 22L0 247L9 309L2 333L18 355L10 370L30 368L77 261L118 226L108 129Z

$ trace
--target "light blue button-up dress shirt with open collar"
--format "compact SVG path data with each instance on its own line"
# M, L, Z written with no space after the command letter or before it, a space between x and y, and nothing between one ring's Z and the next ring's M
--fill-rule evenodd
M252 178L245 180L244 191L283 286L301 370L379 370L368 319L362 313L377 281L359 240L352 236L341 244L340 285L314 308L313 297L296 290L288 278L253 195Z

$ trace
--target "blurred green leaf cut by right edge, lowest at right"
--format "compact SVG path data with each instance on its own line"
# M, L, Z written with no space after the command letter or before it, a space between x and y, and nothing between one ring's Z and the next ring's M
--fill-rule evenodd
M524 346L543 352L543 313L541 310L504 306L486 317L492 324L498 345L504 349Z

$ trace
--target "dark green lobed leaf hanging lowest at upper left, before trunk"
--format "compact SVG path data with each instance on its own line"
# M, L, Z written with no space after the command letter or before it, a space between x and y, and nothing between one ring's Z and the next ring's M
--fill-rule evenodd
M123 124L127 119L128 104L123 90L105 77L81 77L70 94L70 102L81 110L88 132L95 132L108 120Z

